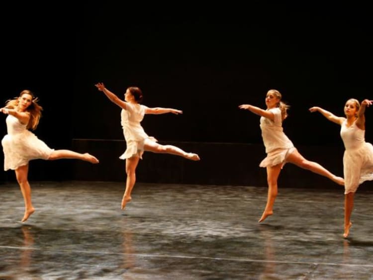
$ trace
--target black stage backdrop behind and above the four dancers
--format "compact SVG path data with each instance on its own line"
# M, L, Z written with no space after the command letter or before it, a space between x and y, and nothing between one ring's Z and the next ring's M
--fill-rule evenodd
M160 142L249 143L263 151L259 116L238 105L264 108L270 88L291 106L286 135L297 147L320 150L343 150L340 128L309 107L343 116L348 98L373 99L371 9L359 2L123 5L83 1L4 10L10 19L1 19L1 102L25 88L34 91L44 107L35 134L49 146L123 140L120 108L96 90L98 81L120 97L139 86L145 105L183 110L145 117L145 131ZM366 116L372 142L370 109ZM4 135L4 122L0 128ZM226 164L219 156L210 160ZM332 160L341 173L342 157ZM30 178L70 179L70 163L36 160ZM12 173L1 176L12 179Z

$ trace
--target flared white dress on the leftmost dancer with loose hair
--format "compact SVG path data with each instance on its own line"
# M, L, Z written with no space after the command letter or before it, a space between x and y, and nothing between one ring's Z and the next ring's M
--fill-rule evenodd
M6 117L7 135L1 140L5 171L27 165L32 159L48 159L54 151L26 127L16 117Z

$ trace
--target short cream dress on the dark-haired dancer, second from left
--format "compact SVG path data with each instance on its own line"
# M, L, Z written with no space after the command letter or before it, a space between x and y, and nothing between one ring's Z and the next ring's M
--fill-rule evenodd
M144 153L144 142L154 140L149 137L141 126L145 111L148 107L141 104L126 103L127 109L122 109L120 113L121 125L123 128L124 139L126 140L126 150L119 156L120 159L138 156L142 159Z

